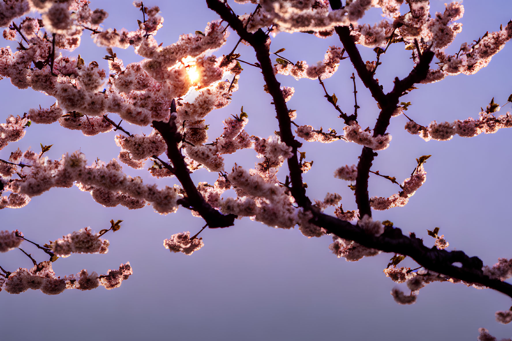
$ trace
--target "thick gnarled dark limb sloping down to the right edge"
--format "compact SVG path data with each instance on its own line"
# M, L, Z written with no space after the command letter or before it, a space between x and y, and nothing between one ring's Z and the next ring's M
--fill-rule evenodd
M458 250L439 250L435 246L428 248L423 245L421 239L415 237L414 233L407 237L402 234L401 229L396 227L386 227L382 235L375 237L367 235L363 230L349 222L321 212L313 212L313 215L314 218L311 222L340 238L353 240L366 247L384 252L408 255L426 269L467 283L480 284L512 297L512 285L498 279L490 279L484 275L482 271L483 263L478 257L468 257L463 251ZM456 262L461 263L462 267L453 265Z

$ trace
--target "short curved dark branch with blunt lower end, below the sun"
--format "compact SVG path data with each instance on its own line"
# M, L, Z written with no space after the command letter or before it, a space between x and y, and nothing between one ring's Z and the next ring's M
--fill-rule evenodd
M167 156L169 157L169 160L173 162L174 175L178 178L185 190L185 193L187 194L186 203L188 207L199 212L210 228L232 226L234 224L234 219L237 218L237 216L224 216L221 212L211 207L204 200L203 196L199 193L196 185L190 178L185 158L181 154L179 148L182 136L178 132L178 127L175 122L176 103L174 99L171 106L171 112L169 122L153 121L153 127L160 133L160 135L162 135L163 139L167 143Z

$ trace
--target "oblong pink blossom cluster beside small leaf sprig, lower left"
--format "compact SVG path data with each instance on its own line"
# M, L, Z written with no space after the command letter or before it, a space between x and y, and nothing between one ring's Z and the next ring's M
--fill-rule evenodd
M69 257L72 253L107 253L110 242L91 233L91 228L81 228L69 235L50 242L52 251L59 257Z

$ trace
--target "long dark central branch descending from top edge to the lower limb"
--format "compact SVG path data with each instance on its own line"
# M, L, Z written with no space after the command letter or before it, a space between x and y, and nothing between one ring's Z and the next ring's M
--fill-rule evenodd
M275 78L272 60L270 59L268 37L261 29L255 33L247 32L241 20L221 1L206 0L206 3L210 9L217 12L217 14L238 33L240 38L247 41L256 52L256 58L260 63L268 93L273 98L275 112L279 121L281 139L288 146L292 147L292 157L288 159L288 168L290 169L290 180L292 184L291 193L299 206L309 207L311 201L306 196L306 189L302 182L301 165L297 158L297 148L300 147L302 143L295 140L291 130L291 120L288 115L288 108L283 97L283 92L280 89L281 84Z

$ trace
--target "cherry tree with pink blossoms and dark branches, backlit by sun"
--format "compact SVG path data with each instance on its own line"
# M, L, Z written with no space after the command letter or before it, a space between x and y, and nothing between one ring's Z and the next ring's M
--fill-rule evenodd
M56 99L49 108L39 107L9 116L6 123L0 124L0 153L5 155L0 159L0 193L3 194L0 208L21 208L30 204L32 197L44 196L54 187L77 186L105 207L122 205L140 209L151 205L158 214L167 215L181 206L202 218L204 227L194 236L190 236L190 231L183 231L163 241L163 246L171 252L190 255L203 247L199 234L205 228L227 228L243 217L250 217L276 228L298 226L308 238L332 236L329 249L347 261L381 252L394 254L384 273L402 284L391 291L398 304L415 303L419 290L432 282L490 288L512 297L512 285L506 282L512 276L512 259L500 258L494 265L484 265L478 257L470 257L461 250L447 250L449 242L437 227L428 231L433 239L425 241L433 246L426 246L416 237L420 231L404 235L391 221L372 219L372 210L399 209L395 207L414 200L412 196L426 181L425 168L431 157L418 155L411 175L403 181L372 170L378 153L393 144L387 131L392 119L406 117L404 129L425 141L446 141L455 135L469 138L512 127L510 113L497 114L503 106L497 102L507 104L512 101L512 95L496 102L493 98L478 117L422 122L425 125L406 114L411 103L402 101L404 95L417 91L417 84L435 83L461 73L473 75L486 67L512 37L512 22L502 23L499 30L488 31L457 49L451 44L462 30L457 20L464 14L464 7L459 2L446 4L444 12L435 14L431 13L427 0L347 0L345 3L235 0L234 3L250 3L252 11L237 14L233 10L235 5L227 1L206 0L212 10L212 21L204 30L182 35L174 44L164 46L156 38L164 21L158 6L135 1L133 4L141 11L142 20L138 20L136 30L128 31L105 29L101 24L108 13L92 10L87 0L0 2L3 37L15 46L0 48L0 78L10 80L19 89L32 88ZM405 13L400 13L402 5L406 5ZM371 8L381 9L382 20L374 25L358 24ZM97 61L86 61L73 54L83 32L90 32L95 44L106 48L103 59L108 61L108 71L100 69ZM339 46L331 46L317 65L294 62L291 57L285 57L285 49L271 44L271 39L283 32L309 34L319 39L333 36L339 38ZM229 37L237 41L232 51L214 55ZM254 54L247 56L250 59L245 55L242 59L236 53L239 44L252 48ZM132 47L142 60L124 66L116 50ZM413 65L409 74L402 79L396 77L393 88L386 92L375 77L376 71L388 49L398 47L411 54ZM373 49L375 60L362 59L359 50L366 48ZM351 63L355 69L351 77L353 112L352 109L346 112L346 105L338 104L338 98L324 83L342 63L347 67ZM242 107L224 119L220 136L209 138L206 116L230 104L239 88L243 68L249 67L261 71L265 82L261 91L272 97L279 131L268 137L249 135L246 132L246 126L250 126L249 115ZM315 126L314 117L289 109L287 102L295 91L291 86L293 80L289 77L287 86L282 86L276 75L317 82L325 98L315 100L332 105L344 124L343 133L333 129L324 131ZM373 128L364 129L358 122L365 114L358 112L356 79L368 89L379 108ZM62 151L65 154L61 159L51 160L45 156L51 145L40 144L40 151L14 150L13 142L30 133L33 123L60 124L91 137L115 131L119 155L110 161L91 162L80 151ZM150 127L152 131L145 135L132 134L131 125ZM332 177L329 181L338 181L334 178L347 181L355 196L355 206L350 200L343 203L353 206L353 210L343 208L342 197L337 193L310 199L304 179L313 160L307 161L312 157L300 151L307 142L362 146L358 160L344 161L354 164L340 165L334 174L332 171L326 174ZM14 146L10 155L6 152L8 145ZM258 159L254 168L226 164L226 155L243 149L255 152ZM179 185L158 187L143 183L140 177L123 172L123 167L147 169L156 178L175 178ZM201 168L216 177L218 174L215 183L192 180L190 175ZM370 197L370 173L400 188L388 197ZM234 191L226 192L230 189ZM110 230L120 230L121 222L112 220L109 229L98 232L83 227L44 245L18 230L0 231L0 252L19 248L26 242L46 253L48 259L37 262L20 249L34 267L0 267L0 288L11 294L28 289L58 294L66 289L91 290L99 285L106 289L119 287L133 273L129 262L103 275L83 269L63 277L52 270L52 262L73 253L108 252L110 243L101 237ZM418 267L400 266L406 257L413 259ZM496 312L496 320L503 324L511 322L512 310ZM479 339L494 338L481 328Z

